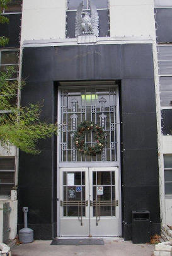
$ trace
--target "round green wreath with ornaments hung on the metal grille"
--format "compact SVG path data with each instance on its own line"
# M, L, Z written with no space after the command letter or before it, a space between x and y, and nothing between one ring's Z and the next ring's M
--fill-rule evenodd
M95 133L96 143L93 146L88 146L85 143L85 135L88 132L93 131ZM74 132L74 144L76 148L83 154L95 155L100 153L105 146L105 131L99 125L84 121L77 126L77 131Z

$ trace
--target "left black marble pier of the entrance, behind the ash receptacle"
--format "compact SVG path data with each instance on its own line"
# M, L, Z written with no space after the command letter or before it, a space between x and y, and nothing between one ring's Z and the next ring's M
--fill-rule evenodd
M54 123L57 116L55 95L53 81L27 83L21 93L21 105L28 106L29 103L42 102L41 119ZM55 216L57 201L55 138L42 139L38 143L38 148L42 150L38 155L20 151L18 228L21 228L23 223L22 208L28 206L28 223L35 231L35 238L51 239L55 236L52 233L52 227L57 222ZM43 224L45 224L45 231L40 232L43 230ZM46 228L50 232L46 232Z

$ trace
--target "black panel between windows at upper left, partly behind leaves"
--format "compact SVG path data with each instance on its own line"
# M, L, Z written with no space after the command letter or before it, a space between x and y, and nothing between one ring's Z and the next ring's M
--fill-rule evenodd
M9 24L0 24L0 37L8 37L9 44L6 47L20 47L20 26L21 15L6 15L9 18Z

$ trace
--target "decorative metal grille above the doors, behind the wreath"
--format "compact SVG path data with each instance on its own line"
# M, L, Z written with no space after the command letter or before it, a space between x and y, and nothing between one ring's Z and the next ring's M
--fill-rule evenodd
M60 87L62 129L60 133L60 161L118 161L118 120L116 86ZM106 145L96 156L81 154L73 143L73 133L84 120L95 122L106 131ZM85 141L93 146L95 135L86 134Z

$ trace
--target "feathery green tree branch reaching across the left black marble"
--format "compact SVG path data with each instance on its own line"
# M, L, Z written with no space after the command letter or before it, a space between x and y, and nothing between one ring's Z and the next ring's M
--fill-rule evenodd
M17 146L22 151L38 154L37 143L40 139L52 137L57 134L57 124L48 124L40 120L42 104L30 104L28 107L17 107L11 103L16 95L18 83L8 81L14 72L8 68L0 73L0 141L1 146Z

